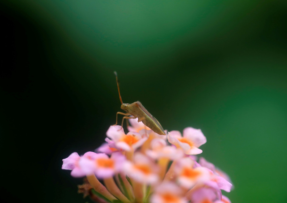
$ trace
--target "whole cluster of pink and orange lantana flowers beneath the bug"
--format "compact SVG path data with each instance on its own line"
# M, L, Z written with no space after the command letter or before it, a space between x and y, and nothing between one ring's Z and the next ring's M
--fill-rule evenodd
M195 155L206 142L200 129L159 135L129 120L127 134L112 125L96 152L74 152L63 159L62 169L86 177L78 186L84 197L103 203L230 203L221 193L230 192L229 177L202 157L197 162Z

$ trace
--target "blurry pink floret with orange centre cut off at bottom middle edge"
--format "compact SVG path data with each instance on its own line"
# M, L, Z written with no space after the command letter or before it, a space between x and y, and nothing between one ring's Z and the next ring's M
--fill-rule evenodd
M156 188L150 198L151 203L187 203L183 197L183 191L172 182L164 182Z

